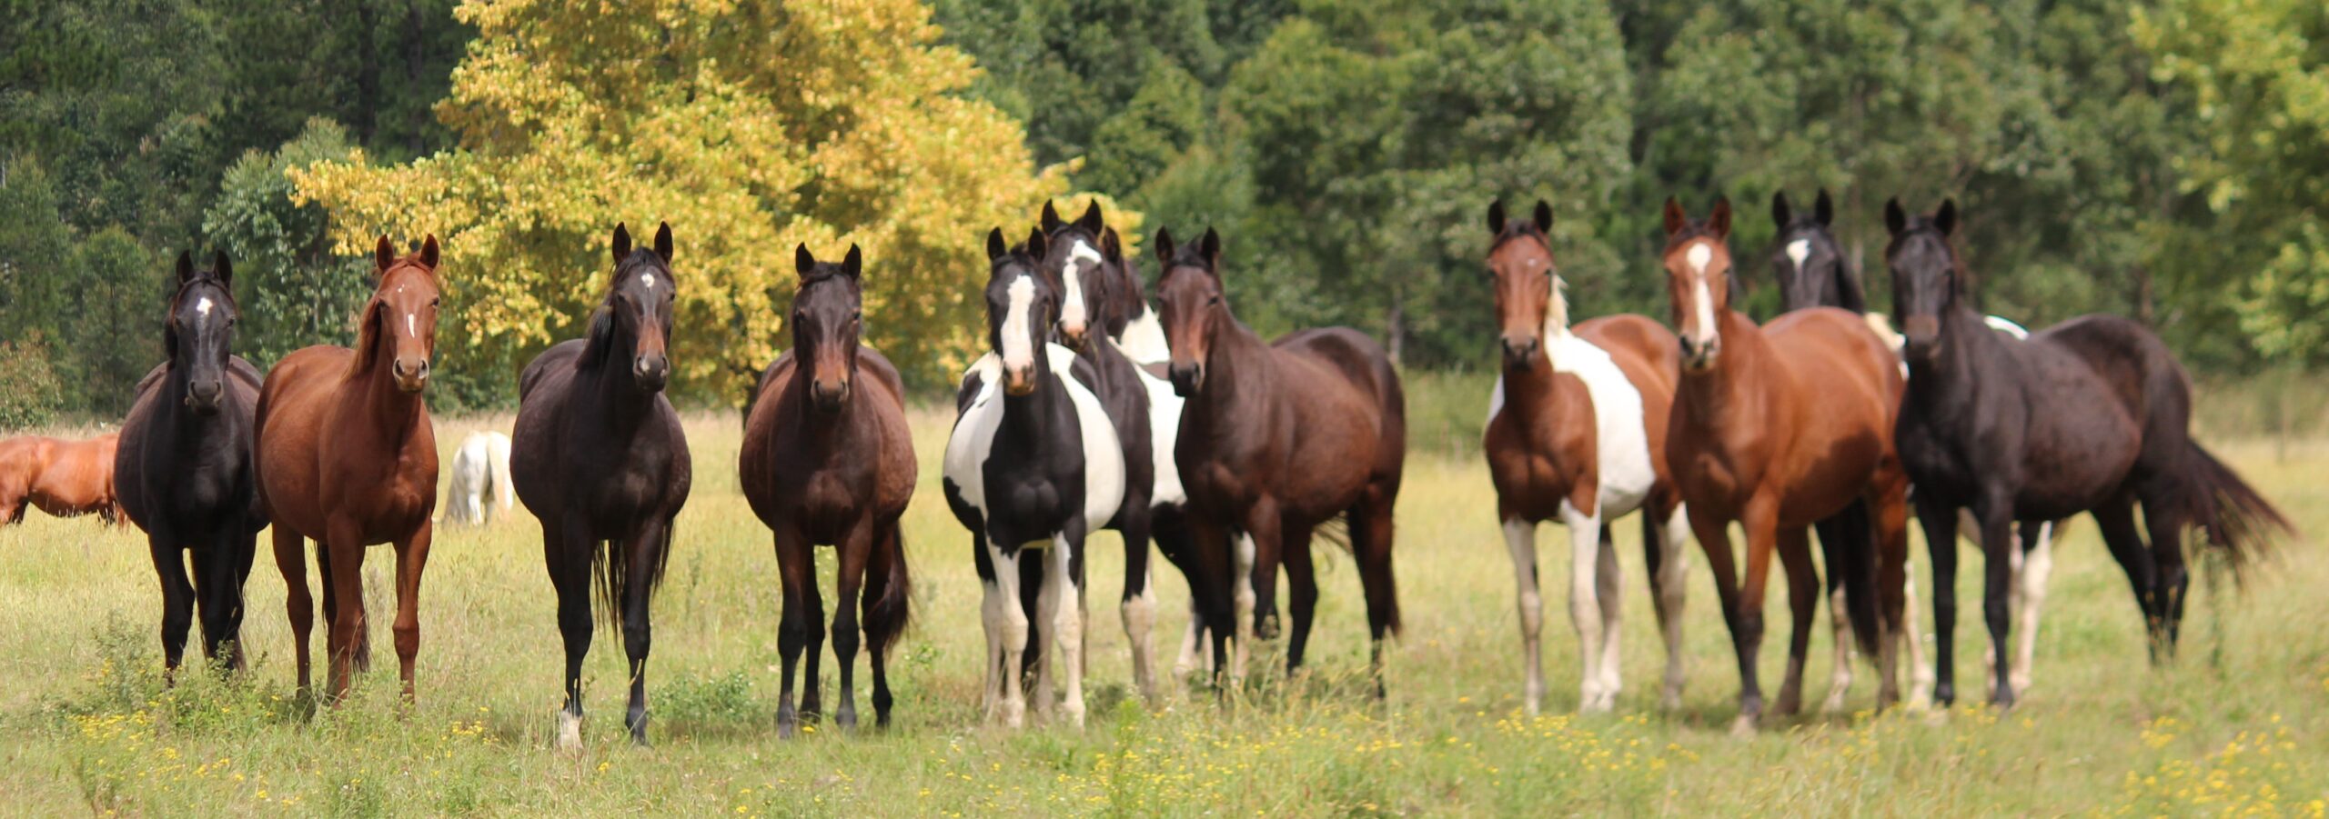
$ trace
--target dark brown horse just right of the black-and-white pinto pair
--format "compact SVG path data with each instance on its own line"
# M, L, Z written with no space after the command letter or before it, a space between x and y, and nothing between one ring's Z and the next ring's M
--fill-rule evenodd
M1346 519L1367 600L1367 663L1381 698L1383 638L1400 628L1390 544L1407 463L1407 396L1390 356L1351 328L1297 330L1265 344L1230 312L1220 235L1211 228L1185 247L1171 242L1171 230L1158 230L1155 249L1169 375L1185 400L1174 463L1195 540L1185 565L1190 596L1209 626L1237 624L1244 654L1251 638L1276 638L1283 563L1293 672L1302 668L1318 605L1311 535ZM1232 577L1239 575L1232 565L1246 563L1232 554L1237 535L1251 535L1253 544L1244 577ZM1232 614L1230 600L1241 612ZM1216 670L1230 668L1227 633L1211 628Z

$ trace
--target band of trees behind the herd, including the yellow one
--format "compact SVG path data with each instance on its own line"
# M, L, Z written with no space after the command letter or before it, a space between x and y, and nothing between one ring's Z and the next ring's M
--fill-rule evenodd
M1265 333L1481 368L1488 200L1553 202L1579 314L1663 316L1658 202L1728 195L1768 284L1765 202L1817 188L1877 305L1882 202L1954 195L1989 312L2313 370L2329 5L0 0L0 426L119 414L179 251L233 256L266 365L352 337L373 235L440 235L433 403L482 407L575 333L606 230L668 219L675 391L731 403L790 347L794 242L866 244L869 342L922 386L978 342L985 228L1085 195L1220 228Z

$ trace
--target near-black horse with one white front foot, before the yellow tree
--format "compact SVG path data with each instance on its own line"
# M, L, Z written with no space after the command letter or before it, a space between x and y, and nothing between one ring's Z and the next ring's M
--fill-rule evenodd
M624 728L647 745L650 603L671 561L671 521L694 477L680 414L664 398L671 379L671 223L652 249L633 249L615 226L606 298L585 337L533 356L517 377L510 484L543 524L543 563L559 596L566 642L566 705L559 747L582 747L582 658L592 640L592 572L608 619L622 633L631 682Z

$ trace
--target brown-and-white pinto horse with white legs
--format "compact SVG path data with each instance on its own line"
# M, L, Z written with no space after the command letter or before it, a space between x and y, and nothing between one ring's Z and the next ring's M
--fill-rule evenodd
M1665 470L1665 426L1682 354L1675 333L1647 316L1602 316L1572 328L1549 240L1553 207L1537 200L1532 216L1505 219L1502 200L1488 205L1505 368L1488 398L1481 447L1519 584L1523 705L1535 714L1544 698L1537 524L1558 519L1570 530L1570 621L1584 661L1577 710L1616 707L1621 605L1609 526L1640 510L1642 558L1665 638L1661 703L1679 707L1689 526Z

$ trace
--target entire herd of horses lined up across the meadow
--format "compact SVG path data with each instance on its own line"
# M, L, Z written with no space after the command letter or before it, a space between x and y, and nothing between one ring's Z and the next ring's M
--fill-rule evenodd
M1838 631L1831 710L1852 684L1854 649L1877 665L1880 705L1903 698L1903 661L1907 700L1952 703L1961 533L1987 556L1982 614L1996 658L1987 686L1994 703L2010 705L2029 686L2029 633L2054 521L2096 519L2126 570L2154 663L2175 649L2189 584L2185 535L2199 530L2240 565L2275 528L2287 530L2189 437L2189 377L2150 330L2082 316L2024 333L1980 316L1952 240L1954 202L1931 216L1886 205L1896 321L1866 314L1833 219L1826 191L1810 214L1793 212L1784 193L1775 198L1770 265L1789 309L1756 323L1730 307L1742 275L1733 270L1728 200L1705 219L1668 200L1658 261L1670 321L1612 314L1572 323L1551 207L1539 200L1521 219L1502 202L1488 207L1502 375L1484 451L1514 561L1528 712L1546 691L1535 544L1544 521L1567 528L1570 619L1584 665L1577 707L1612 710L1621 693L1623 577L1612 526L1640 514L1665 640L1661 703L1682 698L1696 540L1737 654L1737 731L1765 712L1800 710L1821 598ZM627 226L615 226L613 275L587 335L524 368L510 437L466 442L456 458L452 519L482 519L482 486L508 475L543 528L566 644L561 747L582 742L582 661L599 619L592 586L629 661L624 726L633 742L647 742L650 600L694 475L664 396L682 286L673 244L668 223L650 247L633 247ZM1032 700L1046 719L1083 724L1085 542L1102 528L1125 542L1118 607L1144 698L1160 696L1162 677L1151 544L1190 589L1174 675L1204 670L1227 691L1246 675L1253 642L1283 628L1281 570L1290 614L1283 656L1288 672L1300 670L1318 605L1311 540L1321 535L1342 542L1358 568L1369 670L1383 696L1381 649L1400 628L1393 507L1407 451L1400 375L1383 347L1348 328L1255 335L1230 309L1213 230L1192 242L1158 230L1153 289L1099 205L1078 219L1043 205L1025 240L997 228L985 251L987 351L962 377L941 470L985 591L987 721L1020 726ZM759 375L738 454L743 493L771 530L783 584L783 735L824 707L820 544L838 558L834 719L857 724L855 668L866 649L876 721L890 721L885 651L906 628L911 600L899 519L918 479L899 370L862 344L859 249L820 261L799 247L794 270L792 347ZM354 349L307 347L261 375L231 354L238 312L226 256L210 270L196 270L191 256L177 261L163 316L168 361L140 382L119 447L107 449L109 489L119 491L109 503L149 535L172 675L196 612L205 656L242 665L242 584L259 530L272 524L300 693L312 691L307 540L321 575L331 703L370 663L359 568L368 544L387 542L396 554L391 631L403 696L412 698L438 503L424 400L440 293L436 237L408 256L380 237L373 272ZM19 514L16 498L28 493L40 503L42 491L23 486L47 472L89 470L61 449L44 440L0 444L0 512ZM1924 672L1917 640L1912 514L1935 572L1938 675ZM1733 526L1744 551L1733 549ZM1777 700L1765 707L1756 658L1775 554L1793 631ZM2017 605L2024 642L2008 656ZM1928 682L1938 684L1924 691Z

